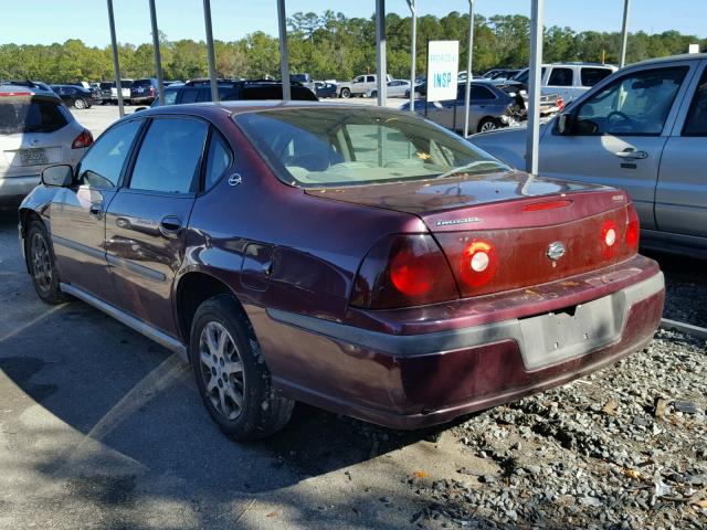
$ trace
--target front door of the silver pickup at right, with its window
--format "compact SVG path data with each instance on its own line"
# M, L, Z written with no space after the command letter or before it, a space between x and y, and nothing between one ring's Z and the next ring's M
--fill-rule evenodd
M661 155L692 64L676 61L629 72L578 103L570 135L550 127L545 131L541 173L624 189L641 225L654 229Z

